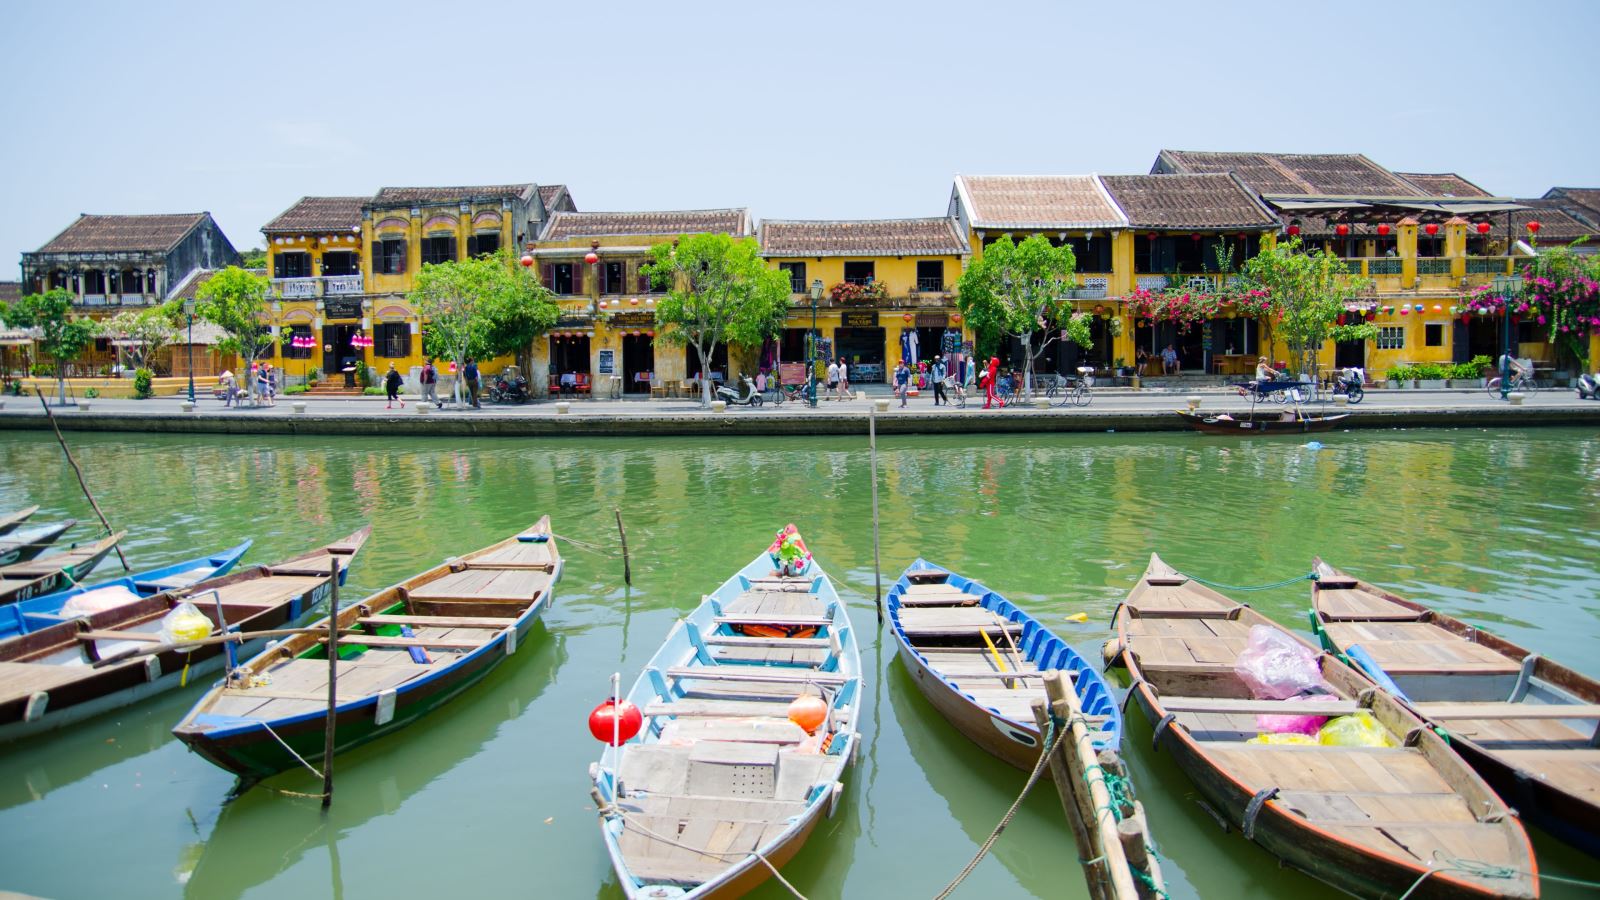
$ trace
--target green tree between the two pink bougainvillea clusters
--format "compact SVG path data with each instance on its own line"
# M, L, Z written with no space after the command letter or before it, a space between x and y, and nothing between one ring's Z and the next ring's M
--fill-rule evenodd
M1366 288L1328 250L1307 251L1291 237L1245 263L1245 282L1267 291L1270 330L1290 348L1293 372L1317 375L1317 351L1330 338L1366 338L1360 325L1339 327L1344 301Z

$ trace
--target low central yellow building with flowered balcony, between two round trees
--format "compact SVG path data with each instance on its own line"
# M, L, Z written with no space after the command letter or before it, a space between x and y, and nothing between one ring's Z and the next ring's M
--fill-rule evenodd
M813 327L818 356L845 357L856 384L885 381L901 359L971 352L955 307L971 247L954 218L765 219L760 242L794 291L782 340L765 364L806 362Z

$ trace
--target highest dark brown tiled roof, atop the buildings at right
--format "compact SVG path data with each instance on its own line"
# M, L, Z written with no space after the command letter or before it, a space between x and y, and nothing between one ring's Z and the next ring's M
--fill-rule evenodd
M1158 173L1232 171L1259 194L1416 197L1416 186L1362 154L1162 151Z

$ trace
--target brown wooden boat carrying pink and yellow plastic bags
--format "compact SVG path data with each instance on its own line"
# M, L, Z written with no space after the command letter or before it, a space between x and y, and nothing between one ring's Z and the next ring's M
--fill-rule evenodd
M1336 700L1253 700L1234 661L1254 626L1283 631L1154 554L1117 610L1131 692L1155 725L1155 746L1218 818L1357 897L1538 897L1533 847L1515 814L1398 700L1328 653L1318 665ZM1258 714L1358 709L1394 746L1246 743Z

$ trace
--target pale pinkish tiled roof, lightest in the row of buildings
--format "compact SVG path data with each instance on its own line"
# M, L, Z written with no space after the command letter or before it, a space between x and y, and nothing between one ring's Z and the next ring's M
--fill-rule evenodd
M957 175L973 227L1122 227L1093 175Z

